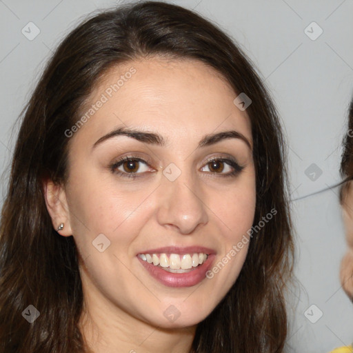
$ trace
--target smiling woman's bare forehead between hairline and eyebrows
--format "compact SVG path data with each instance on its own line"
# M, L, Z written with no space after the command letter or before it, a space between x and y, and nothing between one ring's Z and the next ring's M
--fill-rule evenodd
M196 59L128 61L110 68L94 87L81 115L104 103L80 134L86 130L94 138L124 126L197 139L236 128L252 141L250 119L233 103L236 95L219 72Z

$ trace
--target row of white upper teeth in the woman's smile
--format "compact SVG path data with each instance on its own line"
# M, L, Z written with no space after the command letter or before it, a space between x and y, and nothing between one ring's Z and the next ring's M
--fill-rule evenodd
M182 270L190 270L202 265L207 259L208 254L203 252L194 254L139 254L140 259L153 263L154 266L164 268L168 272L181 273ZM181 270L181 272L178 272Z

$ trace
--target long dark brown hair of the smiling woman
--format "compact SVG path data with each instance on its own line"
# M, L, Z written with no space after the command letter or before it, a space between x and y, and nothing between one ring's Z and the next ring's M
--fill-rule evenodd
M285 288L293 279L286 145L276 108L245 54L210 21L158 1L94 15L59 45L23 110L0 233L0 352L88 352L78 322L83 308L73 236L58 236L42 181L65 183L69 139L64 132L99 78L119 63L161 54L193 58L245 92L254 140L257 225L272 208L275 221L254 233L232 288L201 321L193 353L282 352L288 332ZM21 312L32 304L35 325Z

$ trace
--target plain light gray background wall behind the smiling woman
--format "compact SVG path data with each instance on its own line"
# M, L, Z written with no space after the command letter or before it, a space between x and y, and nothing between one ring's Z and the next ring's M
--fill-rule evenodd
M52 49L85 14L114 3L117 1L0 0L2 194L17 131L11 139L12 125ZM350 344L353 305L339 282L345 238L338 188L310 195L340 180L340 144L353 94L353 1L174 3L194 8L236 39L259 68L281 113L290 145L291 204L298 248L295 271L301 282L301 290L293 290L289 351L329 352ZM21 33L30 21L40 30L32 41ZM305 34L313 21L323 30L316 40ZM315 26L308 30L312 37L319 34ZM314 169L307 170L312 163ZM312 172L315 175L310 175ZM311 305L316 306L307 311ZM323 313L320 319L319 310ZM317 321L312 323L307 317Z

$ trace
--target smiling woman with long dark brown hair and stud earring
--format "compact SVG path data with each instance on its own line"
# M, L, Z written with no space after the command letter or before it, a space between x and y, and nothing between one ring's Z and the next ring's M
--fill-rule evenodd
M61 43L14 152L0 352L282 352L285 148L245 55L179 6Z

